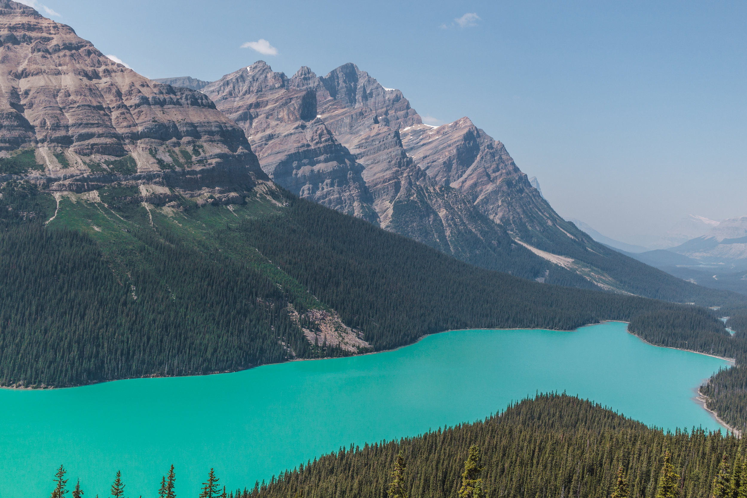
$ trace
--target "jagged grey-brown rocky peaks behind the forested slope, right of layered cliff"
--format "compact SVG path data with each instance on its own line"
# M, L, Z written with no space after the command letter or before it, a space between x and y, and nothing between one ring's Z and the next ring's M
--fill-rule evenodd
M563 220L469 118L426 125L400 90L352 63L288 78L259 60L199 91L244 129L264 172L298 196L523 278L675 301L692 292Z

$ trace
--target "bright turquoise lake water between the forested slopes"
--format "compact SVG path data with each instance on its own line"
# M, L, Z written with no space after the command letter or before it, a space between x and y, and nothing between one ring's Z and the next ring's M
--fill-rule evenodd
M537 391L578 394L648 425L719 429L695 389L728 363L648 345L624 323L573 332L468 330L375 355L238 373L0 390L0 498L44 497L61 464L87 498L177 496L215 468L229 490L350 443L481 419Z

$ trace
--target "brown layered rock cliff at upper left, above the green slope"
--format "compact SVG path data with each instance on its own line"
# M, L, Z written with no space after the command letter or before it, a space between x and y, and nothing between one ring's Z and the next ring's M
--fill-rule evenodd
M203 93L144 78L14 1L0 1L0 40L2 178L72 191L161 178L187 196L267 180Z

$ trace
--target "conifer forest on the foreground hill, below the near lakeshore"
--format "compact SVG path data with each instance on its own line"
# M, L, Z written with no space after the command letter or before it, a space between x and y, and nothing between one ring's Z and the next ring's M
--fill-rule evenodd
M185 496L174 483L172 467L158 496ZM199 498L739 498L747 454L731 434L663 432L551 393L475 423L341 446L269 482L232 485L210 469ZM117 473L111 496L122 489Z

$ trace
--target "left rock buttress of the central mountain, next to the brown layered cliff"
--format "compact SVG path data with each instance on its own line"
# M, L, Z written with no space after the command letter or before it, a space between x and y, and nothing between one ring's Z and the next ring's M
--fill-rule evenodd
M203 91L244 129L273 181L328 208L378 223L361 175L364 166L317 118L316 91L292 83L260 60Z

